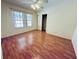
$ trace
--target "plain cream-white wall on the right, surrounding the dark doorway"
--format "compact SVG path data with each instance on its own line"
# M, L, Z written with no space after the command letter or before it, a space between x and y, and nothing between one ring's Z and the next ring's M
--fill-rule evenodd
M42 14L45 13L48 14L47 33L72 38L76 27L76 0L48 0L48 5L38 13L38 29L41 29Z

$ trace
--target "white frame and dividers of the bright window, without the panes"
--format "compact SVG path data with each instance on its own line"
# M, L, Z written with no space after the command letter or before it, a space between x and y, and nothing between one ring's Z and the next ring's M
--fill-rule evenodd
M14 20L14 17L13 17L13 12L18 12L18 13L22 13L22 20ZM12 9L11 10L11 15L12 15L12 17L11 17L11 19L12 19L12 23L13 23L13 26L15 27L15 28L27 28L27 27L32 27L32 20L30 20L31 21L31 26L27 26L28 24L27 24L27 22L28 22L28 20L27 20L27 16L26 16L26 20L24 19L24 16L23 15L27 15L27 14L30 14L31 16L32 16L32 20L33 20L33 14L32 13L27 13L27 12L22 12L22 11L18 11L18 10L14 10L14 9ZM16 26L16 21L23 21L23 27L17 27ZM26 24L25 24L25 23Z

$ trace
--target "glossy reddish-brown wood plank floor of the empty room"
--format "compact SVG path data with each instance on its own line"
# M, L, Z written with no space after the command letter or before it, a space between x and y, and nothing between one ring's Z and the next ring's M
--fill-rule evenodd
M2 39L3 59L76 59L70 40L31 31Z

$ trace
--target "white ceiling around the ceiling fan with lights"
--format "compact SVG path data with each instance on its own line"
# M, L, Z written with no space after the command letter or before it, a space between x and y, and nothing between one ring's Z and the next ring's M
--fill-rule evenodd
M50 7L50 6L54 7L56 5L62 4L64 2L69 2L72 0L2 0L2 1L34 10L31 7L32 4L36 3L34 1L42 1L40 5L42 6L42 9L44 9L44 7Z

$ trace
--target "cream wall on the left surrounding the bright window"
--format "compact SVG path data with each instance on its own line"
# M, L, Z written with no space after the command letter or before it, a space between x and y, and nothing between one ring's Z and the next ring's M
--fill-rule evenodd
M21 29L15 28L14 25L12 24L10 8L32 13L33 14L32 27L26 27L26 28L21 28ZM19 6L2 2L2 5L1 5L1 37L2 38L19 34L19 33L23 33L29 30L33 30L33 29L37 29L37 14L34 11L30 11L28 9L24 9Z

